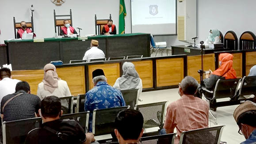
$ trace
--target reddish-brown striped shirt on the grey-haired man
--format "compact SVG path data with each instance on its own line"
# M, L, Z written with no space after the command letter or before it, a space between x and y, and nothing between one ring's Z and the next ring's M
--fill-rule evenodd
M164 129L176 128L178 137L187 130L208 127L209 105L193 95L183 95L167 107Z

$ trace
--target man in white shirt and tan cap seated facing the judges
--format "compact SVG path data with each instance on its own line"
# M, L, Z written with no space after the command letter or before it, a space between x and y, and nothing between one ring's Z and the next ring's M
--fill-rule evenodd
M104 52L101 49L98 49L98 46L99 42L96 40L92 40L91 49L85 52L83 60L89 62L92 59L105 58Z

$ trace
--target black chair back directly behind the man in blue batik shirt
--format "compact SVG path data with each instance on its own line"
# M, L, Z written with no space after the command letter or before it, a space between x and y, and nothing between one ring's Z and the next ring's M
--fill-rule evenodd
M119 111L127 108L128 106L121 106L109 109L93 110L92 133L95 136L114 133L115 117Z

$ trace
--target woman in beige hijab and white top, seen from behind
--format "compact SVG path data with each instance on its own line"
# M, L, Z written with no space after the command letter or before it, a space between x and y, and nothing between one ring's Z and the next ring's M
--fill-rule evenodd
M50 95L55 95L59 98L71 96L68 83L58 77L56 67L53 64L45 65L44 79L38 84L37 95L40 99Z

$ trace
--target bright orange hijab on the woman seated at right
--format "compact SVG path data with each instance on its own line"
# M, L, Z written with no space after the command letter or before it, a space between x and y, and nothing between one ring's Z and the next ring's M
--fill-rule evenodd
M237 73L233 66L233 55L230 53L221 53L219 55L219 61L221 61L221 66L215 70L212 74L217 76L225 77L225 79L236 79Z

